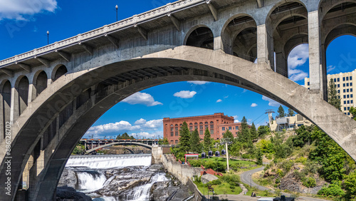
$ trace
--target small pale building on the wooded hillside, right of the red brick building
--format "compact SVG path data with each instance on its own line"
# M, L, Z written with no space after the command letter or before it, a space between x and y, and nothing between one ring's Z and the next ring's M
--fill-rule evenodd
M312 124L313 123L311 123L310 120L297 114L291 117L276 118L276 120L272 120L270 129L273 131L294 130L298 129L301 125L309 126Z

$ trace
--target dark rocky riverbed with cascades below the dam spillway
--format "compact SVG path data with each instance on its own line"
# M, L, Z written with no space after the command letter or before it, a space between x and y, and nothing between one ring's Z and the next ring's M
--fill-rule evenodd
M70 198L74 197L73 189L93 200L184 200L192 195L187 186L164 170L163 165L106 170L66 168L58 187L61 187L57 192L61 195L58 200L73 199ZM83 197L83 193L76 196Z

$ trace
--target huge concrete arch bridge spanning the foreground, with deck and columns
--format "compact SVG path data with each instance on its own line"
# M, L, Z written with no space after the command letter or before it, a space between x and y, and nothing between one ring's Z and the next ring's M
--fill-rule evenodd
M55 200L66 161L95 120L133 93L178 81L272 98L355 160L356 121L325 101L325 50L337 36L356 36L355 8L355 1L181 0L0 61L0 200ZM300 43L309 44L309 89L288 79L286 58Z

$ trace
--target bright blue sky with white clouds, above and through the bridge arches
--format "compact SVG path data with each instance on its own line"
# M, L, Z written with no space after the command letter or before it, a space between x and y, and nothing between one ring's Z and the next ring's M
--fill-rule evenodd
M0 0L0 60L33 50L49 41L96 29L118 19L163 6L167 0L130 1L56 1ZM353 71L356 68L356 38L341 36L330 43L327 51L328 73ZM290 52L290 79L304 85L308 72L308 44ZM88 130L85 137L95 138L129 133L140 138L162 137L162 118L209 115L223 112L249 123L266 125L267 109L277 110L280 104L258 93L221 83L179 82L148 88L136 93L108 110ZM285 108L287 110L287 108Z

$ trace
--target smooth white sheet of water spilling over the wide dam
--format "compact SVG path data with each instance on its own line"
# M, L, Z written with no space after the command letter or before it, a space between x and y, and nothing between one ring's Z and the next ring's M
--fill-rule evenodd
M66 167L88 167L90 169L125 168L129 166L150 166L150 154L132 155L100 155L69 158Z

